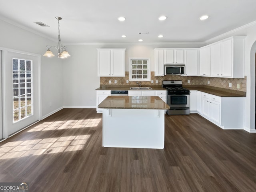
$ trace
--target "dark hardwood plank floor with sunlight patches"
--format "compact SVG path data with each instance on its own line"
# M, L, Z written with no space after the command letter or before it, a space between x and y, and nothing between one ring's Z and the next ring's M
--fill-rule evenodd
M166 115L164 150L103 148L102 114L63 109L0 143L0 182L28 182L30 192L255 192L256 134Z

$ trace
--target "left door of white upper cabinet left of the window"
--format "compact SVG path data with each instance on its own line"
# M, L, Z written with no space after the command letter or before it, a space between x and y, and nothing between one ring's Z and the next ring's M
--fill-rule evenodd
M108 77L110 74L110 50L98 50L98 76Z

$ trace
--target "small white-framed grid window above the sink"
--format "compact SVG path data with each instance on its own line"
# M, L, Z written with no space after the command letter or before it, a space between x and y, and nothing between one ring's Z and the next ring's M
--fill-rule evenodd
M130 58L130 81L150 81L150 58Z

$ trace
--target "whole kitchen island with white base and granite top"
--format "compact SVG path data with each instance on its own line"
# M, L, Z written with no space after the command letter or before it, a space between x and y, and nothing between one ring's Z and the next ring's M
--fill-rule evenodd
M158 96L108 96L102 114L103 147L164 148L164 110Z

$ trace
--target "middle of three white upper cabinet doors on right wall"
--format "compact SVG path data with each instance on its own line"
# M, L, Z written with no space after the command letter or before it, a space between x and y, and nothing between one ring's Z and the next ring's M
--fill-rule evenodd
M211 47L211 76L220 77L220 43Z

